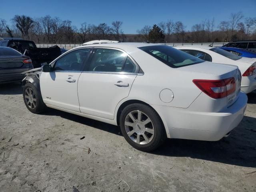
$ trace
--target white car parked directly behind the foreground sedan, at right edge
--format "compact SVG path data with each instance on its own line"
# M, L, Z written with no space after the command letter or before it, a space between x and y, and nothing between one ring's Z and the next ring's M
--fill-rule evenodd
M256 59L240 57L217 47L178 46L174 48L205 61L238 66L242 73L241 90L247 94L256 89Z

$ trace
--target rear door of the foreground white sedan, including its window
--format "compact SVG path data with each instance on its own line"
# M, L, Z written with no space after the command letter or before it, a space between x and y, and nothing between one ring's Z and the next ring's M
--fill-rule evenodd
M139 67L122 50L96 48L78 81L80 111L114 119L115 108L130 92Z

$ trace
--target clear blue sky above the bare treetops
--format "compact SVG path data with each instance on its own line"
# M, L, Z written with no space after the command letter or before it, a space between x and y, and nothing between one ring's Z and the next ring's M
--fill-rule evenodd
M216 24L228 20L232 12L256 17L256 0L0 0L0 8L0 18L9 24L15 14L32 18L49 14L77 27L83 22L111 25L120 20L126 34L170 19L182 21L190 30L208 18L214 17Z

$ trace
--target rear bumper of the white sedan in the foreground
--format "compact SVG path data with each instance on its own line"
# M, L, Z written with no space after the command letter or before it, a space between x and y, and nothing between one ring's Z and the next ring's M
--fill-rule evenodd
M241 122L247 96L240 92L234 104L221 112L197 112L189 109L153 106L166 126L168 138L216 141Z

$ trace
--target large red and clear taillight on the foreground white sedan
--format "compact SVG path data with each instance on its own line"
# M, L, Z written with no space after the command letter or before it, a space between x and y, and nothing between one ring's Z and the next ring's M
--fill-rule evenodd
M202 92L214 99L226 97L236 90L236 80L234 77L222 80L194 79L193 83Z

